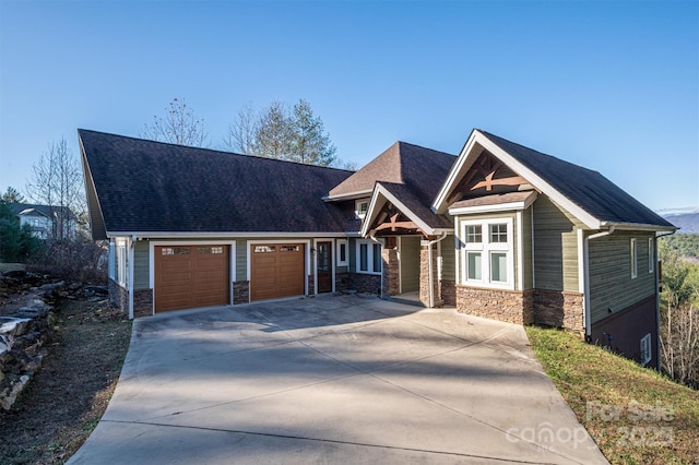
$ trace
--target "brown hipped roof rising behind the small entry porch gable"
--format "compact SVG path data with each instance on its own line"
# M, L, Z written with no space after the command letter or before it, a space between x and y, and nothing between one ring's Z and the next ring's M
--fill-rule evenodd
M328 200L368 196L376 182L390 182L411 187L429 204L455 159L443 152L399 141L331 189Z

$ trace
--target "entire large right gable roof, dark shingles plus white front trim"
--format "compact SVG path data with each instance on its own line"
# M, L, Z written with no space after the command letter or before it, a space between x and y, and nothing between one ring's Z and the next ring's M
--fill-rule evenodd
M600 172L477 129L469 136L459 160L435 199L435 211L447 210L447 198L482 148L554 199L591 229L611 226L652 230L676 229Z

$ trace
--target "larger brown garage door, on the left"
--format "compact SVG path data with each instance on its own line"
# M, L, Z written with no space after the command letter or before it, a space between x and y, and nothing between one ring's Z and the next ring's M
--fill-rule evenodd
M155 248L155 311L229 303L228 246Z

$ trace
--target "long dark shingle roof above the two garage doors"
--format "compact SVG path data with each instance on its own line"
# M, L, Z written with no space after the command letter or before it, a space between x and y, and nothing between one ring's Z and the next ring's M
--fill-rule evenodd
M120 234L344 233L322 196L351 171L80 129L95 239Z

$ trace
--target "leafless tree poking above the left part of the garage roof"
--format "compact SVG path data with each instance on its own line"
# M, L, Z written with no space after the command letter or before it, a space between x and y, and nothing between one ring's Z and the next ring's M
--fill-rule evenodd
M204 120L194 116L185 100L173 98L169 108L165 108L165 118L154 116L151 126L144 124L141 136L170 144L206 146Z

